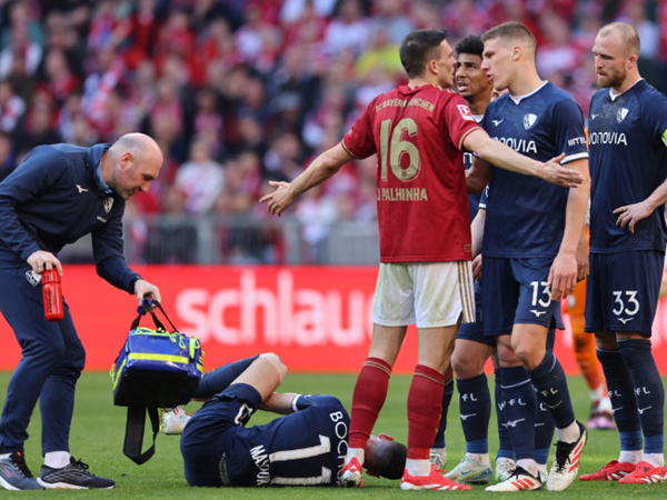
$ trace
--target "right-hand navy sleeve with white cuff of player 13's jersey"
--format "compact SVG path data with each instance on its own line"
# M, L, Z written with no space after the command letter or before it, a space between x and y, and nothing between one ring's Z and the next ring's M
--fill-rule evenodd
M563 99L554 106L552 123L557 150L565 153L564 163L588 158L584 113L574 100Z

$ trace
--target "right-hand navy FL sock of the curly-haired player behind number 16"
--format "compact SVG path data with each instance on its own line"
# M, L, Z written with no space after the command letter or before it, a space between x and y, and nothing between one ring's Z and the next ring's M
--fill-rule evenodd
M489 452L489 420L491 419L491 393L486 374L470 379L456 379L459 392L461 427L468 453Z

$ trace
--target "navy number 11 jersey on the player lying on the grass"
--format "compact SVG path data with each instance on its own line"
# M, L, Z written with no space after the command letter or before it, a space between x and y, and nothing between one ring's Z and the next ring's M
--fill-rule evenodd
M336 486L347 453L349 416L331 396L300 396L296 413L230 429L225 446L232 486Z

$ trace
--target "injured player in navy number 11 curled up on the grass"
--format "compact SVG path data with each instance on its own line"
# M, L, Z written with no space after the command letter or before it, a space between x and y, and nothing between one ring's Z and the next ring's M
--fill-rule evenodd
M348 448L349 416L326 394L277 393L287 368L273 353L206 373L192 416L178 407L160 414L161 430L181 434L188 484L198 487L337 486ZM245 427L257 410L283 414ZM369 474L400 479L407 450L387 436L366 449Z

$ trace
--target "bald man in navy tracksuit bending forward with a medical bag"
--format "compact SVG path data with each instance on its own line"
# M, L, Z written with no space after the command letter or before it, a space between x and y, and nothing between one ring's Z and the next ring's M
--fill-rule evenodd
M74 387L86 351L67 303L59 322L44 319L41 273L62 267L68 243L92 234L97 271L115 287L161 300L160 291L130 270L122 253L125 202L146 192L161 169L157 143L140 133L113 144L34 148L0 183L0 312L22 358L7 390L0 420L0 486L9 490L113 488L69 453ZM23 443L39 399L44 466L33 478Z

